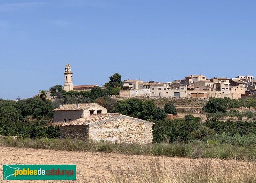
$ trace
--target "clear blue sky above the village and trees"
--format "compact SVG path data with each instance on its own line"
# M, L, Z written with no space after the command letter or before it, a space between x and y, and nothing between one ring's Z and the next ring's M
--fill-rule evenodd
M0 98L64 84L256 75L256 2L0 1Z

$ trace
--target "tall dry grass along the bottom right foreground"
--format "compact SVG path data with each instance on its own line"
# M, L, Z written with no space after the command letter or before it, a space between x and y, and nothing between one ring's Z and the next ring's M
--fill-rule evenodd
M160 158L138 163L135 170L110 170L111 183L254 183L254 162L204 159L200 163L167 165ZM109 182L102 178L99 182Z

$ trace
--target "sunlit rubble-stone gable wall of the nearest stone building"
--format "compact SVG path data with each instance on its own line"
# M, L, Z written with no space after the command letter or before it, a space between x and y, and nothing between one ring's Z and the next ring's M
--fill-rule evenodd
M152 123L129 118L116 118L89 127L89 138L125 143L152 143Z

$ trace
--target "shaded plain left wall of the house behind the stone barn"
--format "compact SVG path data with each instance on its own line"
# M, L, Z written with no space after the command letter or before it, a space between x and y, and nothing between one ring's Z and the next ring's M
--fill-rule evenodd
M83 117L83 110L70 110L70 111L53 111L53 122L54 123L64 123L64 119L66 122L71 119L71 121Z

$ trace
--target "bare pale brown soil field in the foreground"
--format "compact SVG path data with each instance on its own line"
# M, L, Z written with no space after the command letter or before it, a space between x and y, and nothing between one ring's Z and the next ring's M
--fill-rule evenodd
M177 167L190 167L204 163L205 159L188 159L173 157L153 157L140 155L120 155L94 152L58 151L43 149L26 149L15 147L0 147L0 182L109 182L113 180L110 170L116 171L122 168L124 171L136 171L136 167L144 164L146 169L148 162L157 158L161 165L167 165L169 172L177 171ZM236 162L231 160L211 160L221 162ZM76 164L76 180L3 180L3 164ZM179 172L177 172L179 173Z

